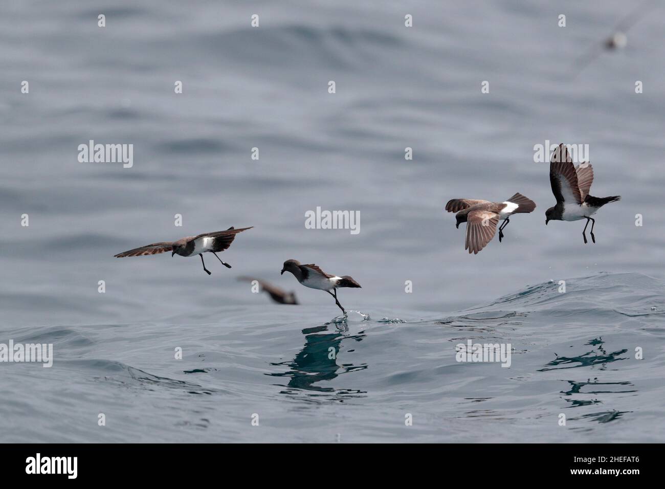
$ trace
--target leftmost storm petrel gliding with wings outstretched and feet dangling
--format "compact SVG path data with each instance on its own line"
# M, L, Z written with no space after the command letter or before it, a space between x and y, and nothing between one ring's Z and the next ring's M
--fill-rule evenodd
M205 273L210 275L210 271L205 268L205 261L203 261L203 255L209 251L217 257L219 261L221 258L217 256L217 251L224 251L231 245L235 239L235 235L241 231L251 230L254 226L249 228L235 229L231 226L226 231L216 231L213 233L204 233L199 234L199 236L188 236L187 238L182 238L174 242L164 242L164 243L153 243L151 245L142 246L140 248L130 249L129 251L123 251L114 255L116 258L122 258L125 256L142 256L142 255L156 255L158 253L164 253L166 251L172 251L171 256L180 255L180 256L196 256L201 257L201 263L203 263L203 270ZM231 265L221 261L221 264L227 268L231 268Z

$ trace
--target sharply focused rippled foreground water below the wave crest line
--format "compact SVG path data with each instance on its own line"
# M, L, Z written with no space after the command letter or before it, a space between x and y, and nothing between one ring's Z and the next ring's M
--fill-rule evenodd
M265 305L19 328L57 357L3 365L3 441L662 441L665 285L597 273L559 290L343 323ZM467 339L509 344L509 367L459 362Z

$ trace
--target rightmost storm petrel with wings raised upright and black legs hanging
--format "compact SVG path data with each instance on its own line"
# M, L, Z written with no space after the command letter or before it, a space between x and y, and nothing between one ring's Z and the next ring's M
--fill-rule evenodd
M568 154L565 145L559 144L552 154L549 164L549 182L552 184L552 193L557 199L557 205L545 211L545 224L550 221L579 221L586 219L587 224L582 232L587 244L587 226L591 221L591 240L595 243L593 214L605 204L621 200L621 196L593 197L589 195L591 182L593 182L593 168L591 163L584 162L573 166L573 160Z

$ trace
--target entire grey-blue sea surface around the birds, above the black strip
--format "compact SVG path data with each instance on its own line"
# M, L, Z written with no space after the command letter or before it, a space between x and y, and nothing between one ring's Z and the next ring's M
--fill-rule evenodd
M55 361L0 363L0 441L665 440L663 7L569 73L633 7L3 1L0 343ZM134 166L79 163L90 139L134 144ZM545 227L545 140L589 144L591 193L622 195L595 245ZM515 192L535 212L469 255L445 203ZM360 212L360 234L305 229L317 206ZM229 226L255 228L210 276L113 257ZM352 275L340 301L371 319L332 322L289 258ZM511 367L456 362L466 339L511 343Z

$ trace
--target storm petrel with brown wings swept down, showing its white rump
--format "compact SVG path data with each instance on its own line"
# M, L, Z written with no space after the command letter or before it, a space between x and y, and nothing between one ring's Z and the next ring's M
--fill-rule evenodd
M448 212L457 212L456 228L466 222L466 244L464 249L477 254L494 238L497 223L503 219L499 228L499 242L503 239L503 228L510 222L513 214L533 212L536 204L522 194L515 194L505 202L489 202L478 199L451 199L446 204Z

